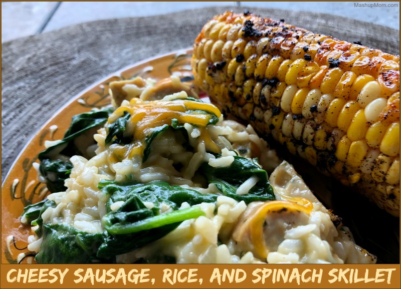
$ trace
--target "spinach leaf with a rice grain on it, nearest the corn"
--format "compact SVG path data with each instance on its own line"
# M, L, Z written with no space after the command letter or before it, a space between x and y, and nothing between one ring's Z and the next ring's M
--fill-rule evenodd
M200 166L209 183L213 183L226 196L237 201L250 203L253 201L274 200L273 187L270 185L267 172L261 169L253 161L234 156L234 162L229 167L212 167L208 163ZM237 195L238 187L252 176L257 176L259 181L252 187L248 194Z

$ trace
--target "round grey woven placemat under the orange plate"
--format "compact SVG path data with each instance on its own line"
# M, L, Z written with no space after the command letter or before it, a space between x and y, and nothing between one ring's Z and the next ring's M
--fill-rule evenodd
M399 53L399 31L387 27L328 14L244 7L96 21L7 42L2 45L2 180L24 145L71 97L127 65L190 47L210 18L244 9Z

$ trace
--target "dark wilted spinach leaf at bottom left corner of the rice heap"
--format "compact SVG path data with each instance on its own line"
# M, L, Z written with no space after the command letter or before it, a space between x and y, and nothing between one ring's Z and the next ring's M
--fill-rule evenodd
M102 233L86 233L66 224L46 224L35 261L46 264L107 262L96 256L102 240Z

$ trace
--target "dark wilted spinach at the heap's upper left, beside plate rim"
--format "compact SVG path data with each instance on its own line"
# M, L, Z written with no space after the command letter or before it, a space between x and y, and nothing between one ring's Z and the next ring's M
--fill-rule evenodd
M104 124L112 112L112 108L104 108L73 116L71 125L61 142L39 154L39 170L46 178L47 187L52 193L66 190L64 180L70 176L73 167L69 157L82 155L73 141L91 128ZM60 158L59 154L64 157Z

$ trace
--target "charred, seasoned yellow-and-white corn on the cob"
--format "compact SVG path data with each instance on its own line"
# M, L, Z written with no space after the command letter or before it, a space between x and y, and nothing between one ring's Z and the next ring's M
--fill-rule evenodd
M399 56L227 12L191 65L223 112L399 215Z

